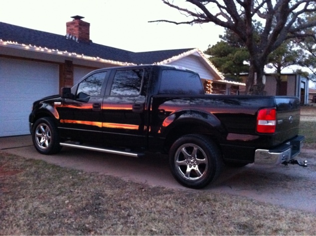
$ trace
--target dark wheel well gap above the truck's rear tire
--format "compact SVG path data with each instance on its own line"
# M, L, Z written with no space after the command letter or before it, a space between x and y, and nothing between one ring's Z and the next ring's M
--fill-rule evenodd
M209 127L202 124L196 123L182 123L178 124L176 127L173 127L169 130L166 139L164 141L164 150L168 152L171 148L171 145L177 140L179 137L188 135L188 134L204 134L208 138L212 139L212 141L219 146L218 136L216 137L216 131L213 127Z

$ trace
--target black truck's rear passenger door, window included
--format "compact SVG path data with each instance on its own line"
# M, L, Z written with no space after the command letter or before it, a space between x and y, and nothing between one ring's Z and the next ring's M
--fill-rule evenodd
M117 69L102 105L102 129L107 143L145 147L149 72L145 68Z

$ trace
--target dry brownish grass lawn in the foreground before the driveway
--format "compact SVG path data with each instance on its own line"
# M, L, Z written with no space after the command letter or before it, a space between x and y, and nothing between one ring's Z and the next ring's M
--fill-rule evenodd
M0 152L1 235L314 235L316 214Z

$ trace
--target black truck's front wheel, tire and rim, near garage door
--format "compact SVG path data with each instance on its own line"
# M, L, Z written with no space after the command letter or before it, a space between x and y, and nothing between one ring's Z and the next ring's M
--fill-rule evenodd
M45 155L60 151L59 134L52 118L39 118L33 125L32 140L36 150Z

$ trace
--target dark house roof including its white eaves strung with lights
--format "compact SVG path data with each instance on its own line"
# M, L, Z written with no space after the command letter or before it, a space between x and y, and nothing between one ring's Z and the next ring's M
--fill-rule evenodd
M58 55L66 55L86 60L99 60L117 65L139 64L168 64L188 55L198 55L202 63L212 69L219 81L227 84L239 84L226 81L224 76L206 58L204 53L197 48L184 48L173 50L159 50L149 52L132 52L97 43L78 42L59 34L29 29L17 25L0 22L0 46L42 51Z

